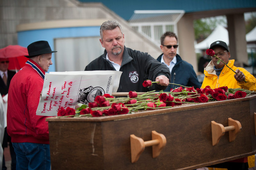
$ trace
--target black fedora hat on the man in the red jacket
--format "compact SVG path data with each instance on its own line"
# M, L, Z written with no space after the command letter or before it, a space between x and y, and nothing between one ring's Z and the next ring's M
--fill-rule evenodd
M28 55L24 55L27 58L31 58L41 54L55 53L52 51L48 41L36 41L28 45Z

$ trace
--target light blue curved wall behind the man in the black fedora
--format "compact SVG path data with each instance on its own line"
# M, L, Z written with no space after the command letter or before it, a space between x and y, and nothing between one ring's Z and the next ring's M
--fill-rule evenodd
M39 29L18 32L18 45L28 47L29 44L35 41L48 41L50 47L54 51L55 38L70 38L70 37L89 37L100 36L100 26L89 27L70 27L70 28L52 28ZM55 71L55 55L52 53L52 65L48 72Z

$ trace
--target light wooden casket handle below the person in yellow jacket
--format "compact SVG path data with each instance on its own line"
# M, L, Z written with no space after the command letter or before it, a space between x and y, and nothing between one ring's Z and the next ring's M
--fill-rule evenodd
M220 138L229 131L229 142L236 139L236 134L242 129L239 121L228 118L228 126L224 127L220 123L212 121L212 146L219 143Z

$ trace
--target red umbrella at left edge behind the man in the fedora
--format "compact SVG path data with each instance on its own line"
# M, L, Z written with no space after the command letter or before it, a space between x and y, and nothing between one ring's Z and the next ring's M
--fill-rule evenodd
M0 49L0 58L9 58L8 70L20 70L28 58L28 49L19 45L9 45Z

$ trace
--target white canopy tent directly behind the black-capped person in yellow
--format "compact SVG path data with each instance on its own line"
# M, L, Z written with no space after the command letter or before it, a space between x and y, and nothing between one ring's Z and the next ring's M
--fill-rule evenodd
M224 28L223 26L219 25L217 26L212 33L204 39L204 41L199 42L198 44L195 45L196 51L198 50L203 50L203 49L208 49L210 48L210 45L214 41L224 41L229 45L229 40L228 40L228 30Z

